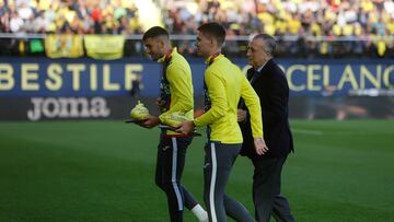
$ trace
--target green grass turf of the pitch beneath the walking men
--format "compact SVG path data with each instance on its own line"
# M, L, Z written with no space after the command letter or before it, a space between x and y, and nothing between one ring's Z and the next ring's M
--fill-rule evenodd
M291 121L282 191L297 221L394 221L394 120ZM153 182L158 130L121 121L0 122L0 221L167 220ZM183 183L202 195L202 145ZM239 157L228 194L253 212L253 168ZM196 221L185 211L185 221Z

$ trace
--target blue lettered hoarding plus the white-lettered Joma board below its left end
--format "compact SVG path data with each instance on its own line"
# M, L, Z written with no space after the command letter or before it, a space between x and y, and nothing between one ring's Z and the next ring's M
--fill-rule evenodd
M202 59L188 60L198 100L206 65ZM244 71L248 68L244 59L233 61ZM277 61L288 77L291 101L327 100L326 89L331 89L329 96L345 97L352 91L394 87L394 62L390 59ZM100 61L1 57L0 119L121 118L134 103L129 97L132 81L141 75L140 96L153 100L159 94L160 73L159 63L142 58ZM32 113L38 109L39 118Z

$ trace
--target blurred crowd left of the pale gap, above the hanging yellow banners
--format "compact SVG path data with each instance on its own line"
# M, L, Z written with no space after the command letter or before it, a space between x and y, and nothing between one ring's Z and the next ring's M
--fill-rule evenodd
M132 0L0 0L1 33L141 33Z

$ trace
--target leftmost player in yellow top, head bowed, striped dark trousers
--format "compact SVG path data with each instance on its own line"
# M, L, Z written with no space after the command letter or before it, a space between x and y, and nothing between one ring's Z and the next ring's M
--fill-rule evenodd
M165 115L182 112L193 119L193 82L192 71L186 59L172 48L166 30L154 26L142 36L147 54L163 65L159 117L150 116L140 126L152 128L158 126ZM172 222L183 221L184 206L192 210L199 221L208 221L207 212L181 184L185 166L186 149L193 137L172 130L162 129L155 168L155 183L166 194L170 218Z

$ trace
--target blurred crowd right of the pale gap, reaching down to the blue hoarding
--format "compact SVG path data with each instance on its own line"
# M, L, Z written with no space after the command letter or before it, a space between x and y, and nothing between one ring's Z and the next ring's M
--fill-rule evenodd
M228 39L275 35L281 56L394 56L393 0L165 0L165 25L175 34L193 34L207 21L228 28ZM228 42L230 54L246 43ZM193 43L182 49L193 52Z

